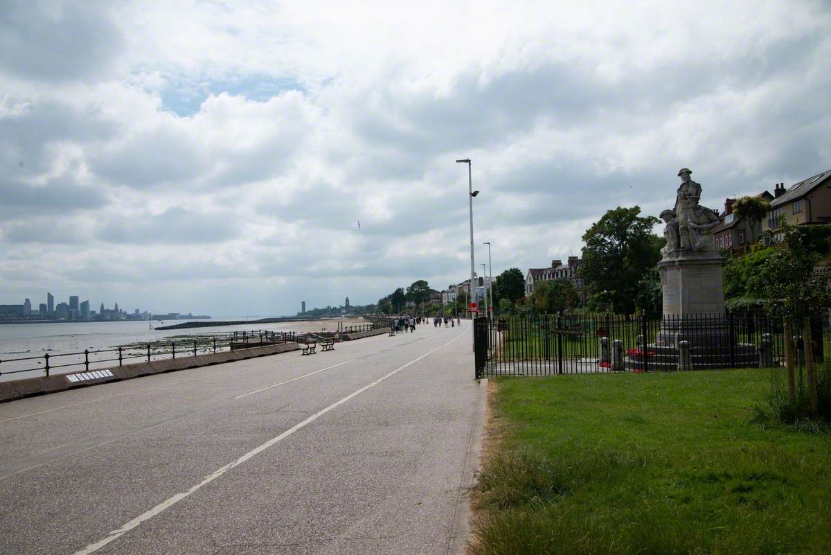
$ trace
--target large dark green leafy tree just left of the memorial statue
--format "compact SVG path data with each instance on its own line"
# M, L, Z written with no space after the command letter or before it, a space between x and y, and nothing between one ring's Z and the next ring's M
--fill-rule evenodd
M639 206L618 206L583 234L583 282L608 297L618 314L634 312L638 283L661 259L663 239L652 233L658 219L638 214Z

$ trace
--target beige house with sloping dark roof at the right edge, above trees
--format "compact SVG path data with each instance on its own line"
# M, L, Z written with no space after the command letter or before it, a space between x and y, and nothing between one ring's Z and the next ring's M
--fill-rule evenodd
M831 223L831 169L784 188L776 184L770 213L763 225L763 233L779 243L784 239L779 229L783 218L794 225Z

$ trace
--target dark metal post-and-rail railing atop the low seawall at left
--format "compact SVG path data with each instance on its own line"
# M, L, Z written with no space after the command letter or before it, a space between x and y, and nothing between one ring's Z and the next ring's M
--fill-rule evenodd
M0 376L23 374L25 372L43 372L45 376L58 371L64 373L70 368L84 371L99 370L112 366L122 366L130 361L160 361L168 358L198 356L217 352L246 349L258 346L286 343L295 340L294 332L231 332L206 337L180 339L178 341L154 341L152 343L133 343L109 349L85 349L84 351L66 352L37 356L22 356L0 360ZM8 368L8 370L6 370Z

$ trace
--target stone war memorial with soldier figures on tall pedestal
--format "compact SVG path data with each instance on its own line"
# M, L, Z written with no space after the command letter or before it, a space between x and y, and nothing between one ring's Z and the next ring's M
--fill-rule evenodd
M725 367L727 360L756 366L757 351L736 342L725 314L721 268L726 259L712 233L719 215L699 204L701 184L691 174L687 168L678 172L675 207L661 212L666 223L666 247L658 263L663 317L656 341L646 351L654 356L656 369Z

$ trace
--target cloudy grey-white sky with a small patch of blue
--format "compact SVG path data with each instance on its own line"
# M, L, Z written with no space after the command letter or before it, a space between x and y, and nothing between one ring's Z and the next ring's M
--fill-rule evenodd
M637 4L637 5L636 5ZM831 167L831 7L0 0L0 303L275 315ZM357 220L361 228L357 228Z

